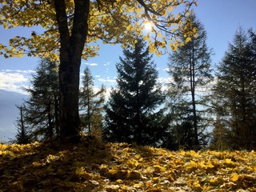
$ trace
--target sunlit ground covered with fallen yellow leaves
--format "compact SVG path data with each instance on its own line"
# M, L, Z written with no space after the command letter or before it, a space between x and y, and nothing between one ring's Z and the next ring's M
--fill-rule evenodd
M126 143L0 144L0 191L256 191L254 151L169 151Z

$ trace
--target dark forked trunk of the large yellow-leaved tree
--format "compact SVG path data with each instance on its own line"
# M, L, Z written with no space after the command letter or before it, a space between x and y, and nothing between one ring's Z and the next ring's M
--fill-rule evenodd
M72 29L68 25L65 0L54 1L60 33L60 130L61 138L78 136L78 92L82 50L88 34L90 0L74 0Z

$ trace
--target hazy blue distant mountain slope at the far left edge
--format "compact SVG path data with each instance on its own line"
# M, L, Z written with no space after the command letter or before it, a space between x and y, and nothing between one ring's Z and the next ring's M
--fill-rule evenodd
M0 90L0 142L8 142L14 138L17 128L14 122L18 118L18 108L27 96L13 91Z

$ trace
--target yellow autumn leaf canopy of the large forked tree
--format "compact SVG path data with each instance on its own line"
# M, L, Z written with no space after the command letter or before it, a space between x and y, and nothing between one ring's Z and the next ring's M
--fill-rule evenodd
M74 17L74 1L66 0L66 18L68 30L72 33ZM94 57L98 51L98 40L108 43L122 43L126 46L135 35L143 35L150 44L150 52L162 54L167 50L166 41L170 41L176 50L183 42L178 41L178 30L188 26L187 19L192 12L191 6L196 5L195 0L153 0L153 1L91 1L89 13L88 35L83 50L83 58ZM182 12L174 14L174 10ZM144 23L150 21L154 24L148 34L143 33ZM0 54L6 58L29 56L42 56L58 58L60 46L58 24L54 10L54 0L5 0L0 6L0 25L6 29L16 26L41 26L30 37L15 36L10 39L10 45L0 43ZM38 28L37 28L38 29ZM186 42L196 34L195 29L184 30ZM19 34L22 35L22 34Z

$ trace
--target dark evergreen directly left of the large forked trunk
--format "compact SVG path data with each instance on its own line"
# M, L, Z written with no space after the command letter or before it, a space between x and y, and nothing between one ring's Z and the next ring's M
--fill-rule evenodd
M34 140L59 136L58 70L56 62L42 59L33 74L25 105L25 121Z

